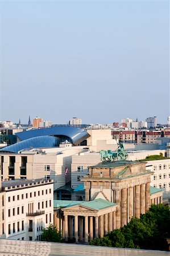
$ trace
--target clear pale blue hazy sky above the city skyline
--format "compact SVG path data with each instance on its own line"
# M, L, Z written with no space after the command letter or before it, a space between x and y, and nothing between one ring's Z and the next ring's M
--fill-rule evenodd
M0 121L169 114L169 1L2 1Z

